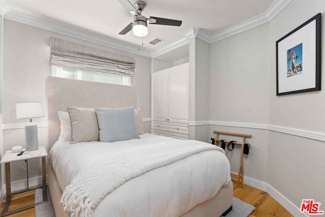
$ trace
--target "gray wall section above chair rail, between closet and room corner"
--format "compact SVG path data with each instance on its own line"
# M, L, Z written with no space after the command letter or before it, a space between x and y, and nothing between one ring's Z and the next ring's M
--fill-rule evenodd
M210 45L210 120L268 122L268 24Z

